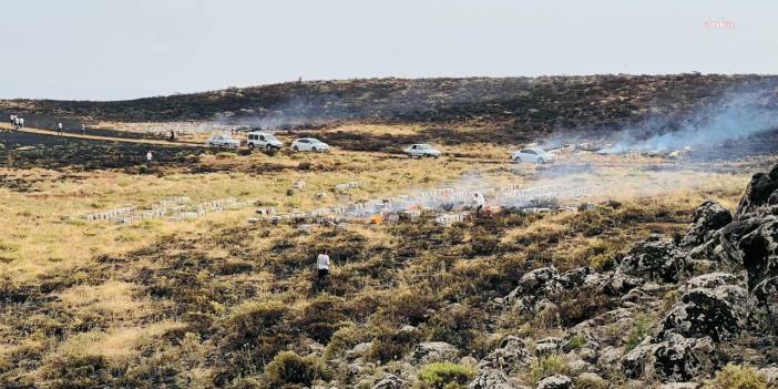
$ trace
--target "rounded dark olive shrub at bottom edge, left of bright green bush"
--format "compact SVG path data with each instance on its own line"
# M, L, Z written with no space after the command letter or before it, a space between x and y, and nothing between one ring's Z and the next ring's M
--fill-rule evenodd
M265 367L267 380L273 383L299 383L310 386L324 378L324 364L315 356L300 357L295 351L281 351Z

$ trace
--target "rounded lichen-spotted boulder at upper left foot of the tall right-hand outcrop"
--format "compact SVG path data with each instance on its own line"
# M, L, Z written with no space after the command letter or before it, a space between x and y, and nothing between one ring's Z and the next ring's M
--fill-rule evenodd
M686 273L686 254L673 239L652 235L629 250L617 272L651 281L677 283Z

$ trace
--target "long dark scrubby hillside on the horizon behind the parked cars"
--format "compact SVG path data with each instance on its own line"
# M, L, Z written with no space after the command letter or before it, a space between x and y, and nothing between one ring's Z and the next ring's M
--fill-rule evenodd
M653 115L673 116L727 91L776 84L778 76L774 75L698 73L306 81L129 101L8 100L0 101L0 112L117 122L219 120L265 126L487 122L547 132L603 130Z

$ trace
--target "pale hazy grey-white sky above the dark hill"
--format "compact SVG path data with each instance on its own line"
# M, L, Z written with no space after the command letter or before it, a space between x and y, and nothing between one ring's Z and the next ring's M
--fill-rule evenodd
M298 76L778 73L774 0L0 6L0 99L132 99Z

